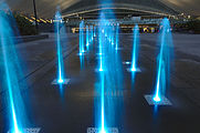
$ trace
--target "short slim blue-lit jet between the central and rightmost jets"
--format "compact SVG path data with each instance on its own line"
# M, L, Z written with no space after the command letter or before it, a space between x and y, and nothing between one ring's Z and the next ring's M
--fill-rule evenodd
M133 57L131 57L131 69L130 71L136 72L138 70L138 48L139 48L139 27L138 24L134 28L134 43L133 43Z

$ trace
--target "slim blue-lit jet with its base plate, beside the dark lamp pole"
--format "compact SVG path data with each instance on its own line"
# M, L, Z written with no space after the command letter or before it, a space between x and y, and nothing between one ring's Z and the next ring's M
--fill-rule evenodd
M55 39L56 39L56 55L57 55L57 79L55 79L52 84L69 84L70 79L64 78L64 62L63 62L63 51L62 43L64 42L61 38L65 37L65 25L62 20L61 13L57 11L55 13Z

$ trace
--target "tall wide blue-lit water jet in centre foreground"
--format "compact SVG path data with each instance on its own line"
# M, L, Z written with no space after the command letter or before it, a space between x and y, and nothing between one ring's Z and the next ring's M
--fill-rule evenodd
M107 1L106 1L107 2ZM104 0L102 4L107 4ZM112 1L109 1L109 4ZM113 14L113 10L101 11L98 21L98 86L97 93L101 95L95 103L96 126L99 133L109 133L110 127L118 124L120 113L123 112L123 69L119 52L116 52L117 30L113 20L109 20L107 12ZM118 45L118 44L117 44ZM118 48L118 47L117 47Z

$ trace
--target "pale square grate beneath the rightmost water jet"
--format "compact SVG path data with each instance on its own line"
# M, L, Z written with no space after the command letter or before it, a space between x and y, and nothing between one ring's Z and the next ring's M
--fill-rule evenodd
M160 102L155 102L152 100L154 95L145 95L145 99L147 100L149 105L172 105L172 103L164 95L160 98Z

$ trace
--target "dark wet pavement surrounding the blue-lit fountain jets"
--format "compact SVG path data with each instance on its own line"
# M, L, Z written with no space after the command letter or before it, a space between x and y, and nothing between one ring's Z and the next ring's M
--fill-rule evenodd
M73 45L77 44L77 37L74 37ZM110 126L117 127L119 133L200 133L200 80L198 74L200 73L200 62L198 62L197 55L175 49L171 82L166 93L172 103L171 106L150 106L144 98L145 94L154 92L158 52L156 41L152 41L155 38L156 34L141 37L139 52L141 72L138 72L133 81L131 74L126 71L128 65L123 64L123 61L130 61L133 37L131 34L120 34L122 50L118 52L122 55L124 88L119 93L123 94L124 100L123 108L113 112L112 115L116 122ZM53 55L51 52L53 47L46 47L50 42L53 43L52 40L45 43L44 40L35 42L35 44L44 43L41 51L46 59ZM175 48L177 48L176 44ZM36 53L34 49L29 50ZM70 84L63 85L62 90L57 85L51 84L56 78L56 66L54 65L24 91L30 123L32 126L41 127L41 133L86 133L87 127L95 126L94 100L98 98L95 93L95 83L98 81L95 72L97 59L96 54L91 51L85 55L84 68L81 68L77 52L77 50L74 51L64 60L65 75L71 79ZM35 57L30 55L30 58ZM108 96L114 98L112 99L114 102L117 102L117 98L122 98L117 93ZM4 114L6 112L2 111L1 132L8 131Z

